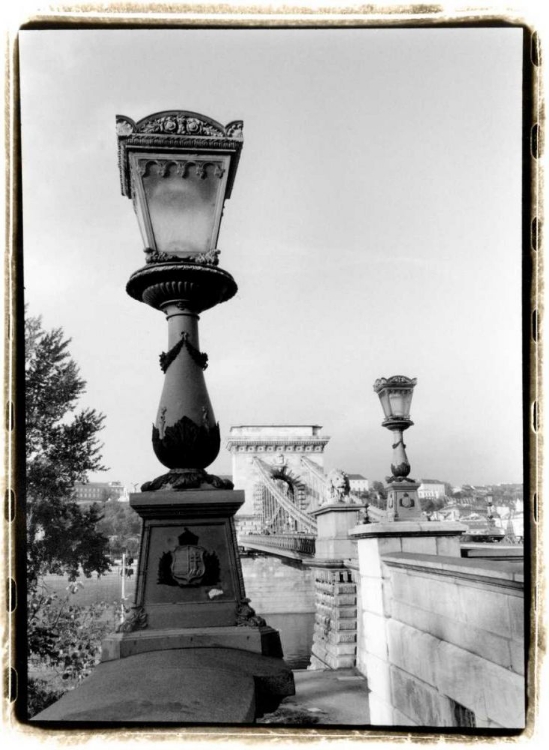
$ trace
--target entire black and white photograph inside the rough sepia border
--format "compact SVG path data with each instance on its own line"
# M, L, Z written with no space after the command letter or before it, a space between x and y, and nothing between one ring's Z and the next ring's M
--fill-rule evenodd
M530 44L19 31L36 736L524 731Z

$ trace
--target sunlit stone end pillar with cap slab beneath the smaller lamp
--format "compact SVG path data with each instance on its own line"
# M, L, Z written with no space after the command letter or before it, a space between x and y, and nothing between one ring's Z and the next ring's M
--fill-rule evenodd
M460 557L463 524L445 521L371 523L350 530L358 542L361 611L358 615L357 668L371 691L370 720L376 725L400 721L394 707L389 661L388 623L392 592L383 556L394 552Z

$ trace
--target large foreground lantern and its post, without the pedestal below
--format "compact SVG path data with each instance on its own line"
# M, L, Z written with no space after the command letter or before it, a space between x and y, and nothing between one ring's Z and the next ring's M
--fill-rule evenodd
M168 321L152 441L170 471L142 489L229 488L204 471L219 453L220 433L204 380L208 357L200 351L198 320L237 291L233 277L218 268L217 238L242 149L242 122L224 127L172 110L138 122L119 115L116 129L122 193L133 201L145 245L145 266L132 274L127 291Z

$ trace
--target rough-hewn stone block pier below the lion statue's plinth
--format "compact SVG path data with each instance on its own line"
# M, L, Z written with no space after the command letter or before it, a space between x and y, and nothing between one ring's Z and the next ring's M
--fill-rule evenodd
M356 665L357 585L343 567L316 568L316 616L310 669Z

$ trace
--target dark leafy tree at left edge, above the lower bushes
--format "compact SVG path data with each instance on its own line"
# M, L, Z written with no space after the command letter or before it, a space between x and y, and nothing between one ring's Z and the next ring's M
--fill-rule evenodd
M96 531L96 507L73 499L76 482L102 471L98 433L104 417L76 411L85 392L63 329L44 331L41 318L25 321L27 563L32 590L46 573L75 580L109 569L108 540Z

